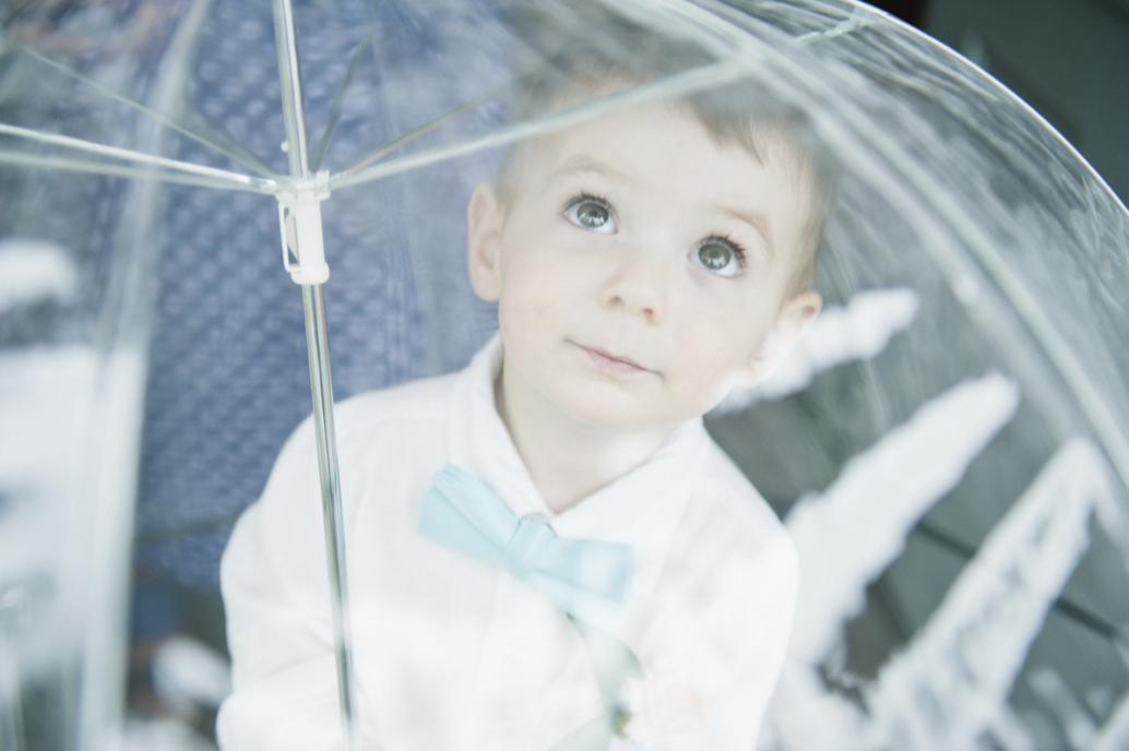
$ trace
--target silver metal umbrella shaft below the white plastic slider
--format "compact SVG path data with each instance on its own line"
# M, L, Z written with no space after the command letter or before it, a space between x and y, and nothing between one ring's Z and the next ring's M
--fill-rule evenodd
M301 304L306 317L306 351L309 359L309 390L314 403L317 471L322 488L322 518L325 554L330 573L333 609L333 644L338 669L338 698L347 741L352 739L352 657L349 631L349 599L345 578L344 521L341 510L341 474L333 428L333 382L325 326L325 296L322 285L303 285Z

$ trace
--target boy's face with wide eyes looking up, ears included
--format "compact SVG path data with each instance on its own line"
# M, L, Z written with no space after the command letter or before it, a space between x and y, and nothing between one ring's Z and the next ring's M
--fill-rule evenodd
M787 159L669 105L520 147L471 200L470 265L499 302L507 388L588 423L672 426L762 375L820 307L788 295L808 197Z

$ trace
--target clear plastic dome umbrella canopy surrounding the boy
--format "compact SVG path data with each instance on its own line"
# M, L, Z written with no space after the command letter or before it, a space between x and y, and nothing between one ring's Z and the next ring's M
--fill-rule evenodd
M1124 207L1036 113L870 9L609 6L0 18L12 748L117 732L134 526L146 578L215 593L307 373L332 501L326 341L342 396L461 367L491 335L465 202L513 143L719 87L799 113L834 183L824 313L708 420L799 552L762 743L1124 742ZM575 85L588 58L619 77Z

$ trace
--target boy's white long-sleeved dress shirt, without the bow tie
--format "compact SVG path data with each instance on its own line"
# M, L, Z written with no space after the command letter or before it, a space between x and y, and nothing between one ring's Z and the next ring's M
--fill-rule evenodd
M501 568L417 533L448 462L562 536L631 545L620 606L585 621L629 645L639 717L613 748L747 749L787 646L796 560L771 509L693 420L646 464L553 514L495 409L498 337L462 373L339 405L356 722L391 751L543 751L603 711L584 640ZM221 565L234 692L225 751L341 739L314 431L283 447ZM686 699L689 697L689 699Z

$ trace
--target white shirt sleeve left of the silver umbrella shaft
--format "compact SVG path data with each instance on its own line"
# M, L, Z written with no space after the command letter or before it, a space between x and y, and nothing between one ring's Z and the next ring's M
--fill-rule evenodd
M342 737L317 461L309 421L283 447L220 564L233 692L224 751L318 751Z

